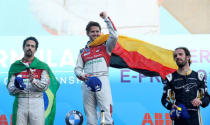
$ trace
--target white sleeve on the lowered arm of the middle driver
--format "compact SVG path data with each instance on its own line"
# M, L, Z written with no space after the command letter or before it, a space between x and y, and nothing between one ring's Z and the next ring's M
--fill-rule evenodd
M84 68L84 62L82 60L81 53L79 53L77 58L77 64L76 67L74 68L74 73L78 79L81 79L81 76L84 75L83 68Z

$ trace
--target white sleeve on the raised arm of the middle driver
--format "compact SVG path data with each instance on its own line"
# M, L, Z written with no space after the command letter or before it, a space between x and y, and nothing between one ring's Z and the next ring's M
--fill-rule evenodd
M111 55L112 50L114 49L115 44L117 43L118 34L117 34L114 24L112 23L109 17L106 17L104 21L106 22L107 28L109 30L109 38L106 42L106 51L109 55Z

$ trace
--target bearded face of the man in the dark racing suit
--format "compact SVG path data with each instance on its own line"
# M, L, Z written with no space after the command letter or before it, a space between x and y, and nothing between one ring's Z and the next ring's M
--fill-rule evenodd
M190 56L186 56L183 49L177 49L174 52L174 60L179 68L189 64Z

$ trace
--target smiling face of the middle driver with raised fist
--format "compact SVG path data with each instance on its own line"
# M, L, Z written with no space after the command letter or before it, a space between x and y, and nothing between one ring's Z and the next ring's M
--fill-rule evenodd
M89 36L90 41L93 41L101 35L101 30L98 26L91 26L87 35Z

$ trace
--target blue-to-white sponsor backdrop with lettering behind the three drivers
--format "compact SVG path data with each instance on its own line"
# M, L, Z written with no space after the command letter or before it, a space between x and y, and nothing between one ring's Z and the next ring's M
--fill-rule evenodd
M27 36L1 36L0 46L0 125L11 123L14 98L6 89L10 64L23 56L22 41ZM40 46L36 57L48 63L61 86L57 92L55 125L65 124L65 116L78 110L84 116L81 84L74 75L79 50L85 46L86 36L35 36ZM187 46L191 50L191 68L204 72L210 86L210 35L131 36L167 49ZM169 125L168 112L161 105L163 85L160 77L145 77L129 69L110 68L114 112L117 125ZM208 90L209 91L209 90ZM210 124L210 106L201 108L204 125ZM86 121L86 117L84 117Z

